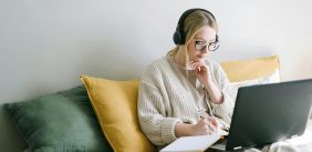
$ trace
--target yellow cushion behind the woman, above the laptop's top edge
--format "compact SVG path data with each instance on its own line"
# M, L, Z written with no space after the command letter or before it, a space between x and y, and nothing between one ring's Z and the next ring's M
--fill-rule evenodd
M280 69L279 57L222 62L221 67L231 82L253 80L272 74Z

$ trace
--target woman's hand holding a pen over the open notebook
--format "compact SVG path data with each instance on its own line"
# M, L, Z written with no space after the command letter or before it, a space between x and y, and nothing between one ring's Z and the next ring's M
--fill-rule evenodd
M193 125L193 135L206 135L217 132L218 122L214 116L206 116Z

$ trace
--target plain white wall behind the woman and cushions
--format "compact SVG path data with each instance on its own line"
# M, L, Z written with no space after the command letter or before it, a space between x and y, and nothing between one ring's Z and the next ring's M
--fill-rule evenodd
M312 78L310 6L309 0L1 0L0 104L79 85L82 73L138 78L174 47L178 18L194 7L210 10L219 22L221 48L211 58L279 54L283 80ZM3 114L0 148L19 151L8 143L17 136L9 135L12 125Z

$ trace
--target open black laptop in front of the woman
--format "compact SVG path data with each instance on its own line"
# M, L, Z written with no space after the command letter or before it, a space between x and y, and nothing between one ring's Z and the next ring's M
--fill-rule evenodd
M312 103L312 79L239 88L229 135L212 150L233 151L302 135Z

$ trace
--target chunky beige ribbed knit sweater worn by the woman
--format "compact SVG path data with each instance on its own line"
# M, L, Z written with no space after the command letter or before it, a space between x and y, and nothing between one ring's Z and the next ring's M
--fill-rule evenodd
M138 91L137 112L142 131L154 144L162 146L175 141L177 122L197 123L200 115L196 105L198 101L195 101L198 98L195 97L198 93L206 97L199 102L210 105L216 116L230 123L237 89L217 62L208 60L207 64L212 81L223 95L222 104L214 104L208 92L200 91L204 87L195 88L189 83L186 74L168 55L146 68Z

